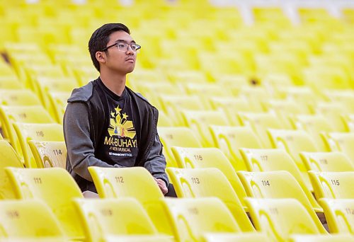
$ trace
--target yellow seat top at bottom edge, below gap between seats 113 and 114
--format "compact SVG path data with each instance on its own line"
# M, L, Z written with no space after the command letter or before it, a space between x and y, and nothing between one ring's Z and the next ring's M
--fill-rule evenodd
M205 242L258 242L258 241L270 241L265 234L261 233L207 233L204 236Z

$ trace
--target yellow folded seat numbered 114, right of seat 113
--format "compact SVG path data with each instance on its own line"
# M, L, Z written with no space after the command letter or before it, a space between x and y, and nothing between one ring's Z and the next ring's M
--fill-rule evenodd
M307 209L321 233L327 234L297 180L288 171L237 172L249 197L294 198Z

